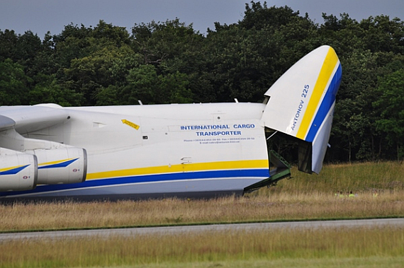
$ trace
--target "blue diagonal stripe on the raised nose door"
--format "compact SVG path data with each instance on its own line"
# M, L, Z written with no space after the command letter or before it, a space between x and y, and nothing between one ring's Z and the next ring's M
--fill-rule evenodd
M310 130L305 137L305 141L314 141L315 135L318 132L322 122L324 122L325 117L327 116L328 112L330 111L332 104L335 102L335 95L337 95L338 88L340 87L342 78L342 66L338 66L337 71L332 78L330 86L328 87L327 93L325 94L324 99L318 109L317 114L313 120L313 124L311 124Z

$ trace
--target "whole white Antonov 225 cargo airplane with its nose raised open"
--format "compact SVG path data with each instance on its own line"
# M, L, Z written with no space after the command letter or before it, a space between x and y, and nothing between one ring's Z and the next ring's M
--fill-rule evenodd
M242 195L291 176L268 151L276 132L299 140L299 170L320 173L341 77L323 45L264 103L2 106L0 201Z

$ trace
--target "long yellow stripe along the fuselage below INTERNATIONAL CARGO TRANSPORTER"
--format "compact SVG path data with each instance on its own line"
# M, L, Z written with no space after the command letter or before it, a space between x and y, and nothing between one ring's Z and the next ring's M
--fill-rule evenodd
M104 171L87 174L86 180L100 179L104 177L126 177L134 175L150 175L161 173L179 173L206 170L230 170L243 168L269 168L268 160L247 160L247 161L222 161L212 163L187 163L180 165L161 165L150 168L131 168L126 170Z

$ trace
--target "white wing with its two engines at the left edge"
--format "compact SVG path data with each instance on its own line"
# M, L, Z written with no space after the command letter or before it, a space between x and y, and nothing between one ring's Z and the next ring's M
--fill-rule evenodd
M23 136L66 120L59 105L0 107L0 192L85 180L84 148Z

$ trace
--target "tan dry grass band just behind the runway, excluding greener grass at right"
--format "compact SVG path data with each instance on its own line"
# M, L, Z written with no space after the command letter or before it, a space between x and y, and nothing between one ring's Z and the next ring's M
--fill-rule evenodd
M374 198L276 193L210 200L59 202L0 206L1 231L404 216L404 191Z

